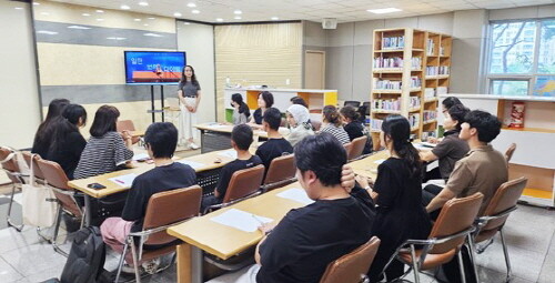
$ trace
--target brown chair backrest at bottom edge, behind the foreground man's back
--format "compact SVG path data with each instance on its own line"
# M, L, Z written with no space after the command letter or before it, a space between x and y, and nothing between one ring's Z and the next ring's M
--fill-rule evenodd
M327 264L320 283L360 283L366 279L370 265L374 261L380 239L373 236L356 250Z

